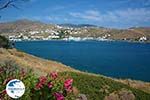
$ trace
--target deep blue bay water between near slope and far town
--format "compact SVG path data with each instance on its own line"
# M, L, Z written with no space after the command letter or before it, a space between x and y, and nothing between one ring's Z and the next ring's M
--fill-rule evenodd
M73 68L116 78L150 81L150 44L100 41L28 41L16 48Z

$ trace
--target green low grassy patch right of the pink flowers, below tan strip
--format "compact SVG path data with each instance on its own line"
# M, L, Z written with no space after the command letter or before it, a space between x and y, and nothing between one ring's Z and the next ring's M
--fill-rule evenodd
M80 93L85 94L89 100L103 100L105 96L122 89L132 91L136 100L150 100L150 94L109 78L76 72L64 72L61 74L72 77L74 86L77 87Z

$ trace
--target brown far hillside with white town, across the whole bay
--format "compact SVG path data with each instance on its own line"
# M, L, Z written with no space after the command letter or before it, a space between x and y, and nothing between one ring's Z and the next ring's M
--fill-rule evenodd
M96 39L150 42L150 27L111 29L89 24L52 25L38 21L18 20L0 23L0 34L12 40Z

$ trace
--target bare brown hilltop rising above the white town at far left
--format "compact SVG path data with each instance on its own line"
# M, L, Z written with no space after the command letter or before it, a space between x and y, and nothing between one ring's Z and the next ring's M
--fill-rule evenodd
M0 23L0 33L19 33L27 32L30 30L40 31L47 28L52 29L53 27L54 25L51 24L23 19L13 22Z

